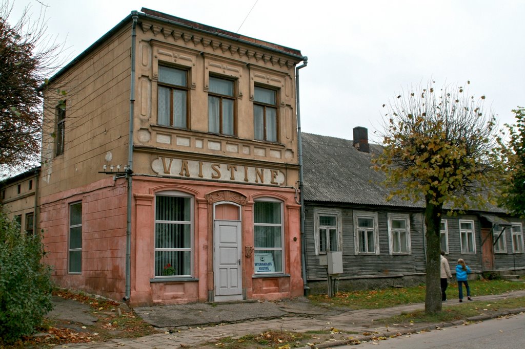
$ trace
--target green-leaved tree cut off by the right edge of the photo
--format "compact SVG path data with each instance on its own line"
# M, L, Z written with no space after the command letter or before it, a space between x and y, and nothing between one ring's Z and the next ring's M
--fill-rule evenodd
M512 113L516 124L505 124L508 136L503 133L497 138L493 166L501 173L497 187L499 204L509 213L525 218L525 108L518 106Z

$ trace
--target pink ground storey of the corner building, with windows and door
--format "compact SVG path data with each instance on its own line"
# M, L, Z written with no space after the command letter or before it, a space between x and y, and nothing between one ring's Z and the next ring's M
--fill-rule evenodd
M132 180L127 290L127 187L107 178L40 199L58 286L129 292L133 306L302 295L295 189L146 176Z

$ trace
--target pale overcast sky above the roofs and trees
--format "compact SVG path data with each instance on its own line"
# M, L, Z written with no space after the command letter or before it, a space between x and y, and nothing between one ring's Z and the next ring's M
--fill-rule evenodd
M39 12L40 3L48 34L66 41L70 59L143 6L299 49L308 56L300 70L303 132L351 139L352 128L364 126L373 139L382 105L430 79L470 80L470 94L486 95L500 125L525 106L522 0L15 0L10 18L26 5Z

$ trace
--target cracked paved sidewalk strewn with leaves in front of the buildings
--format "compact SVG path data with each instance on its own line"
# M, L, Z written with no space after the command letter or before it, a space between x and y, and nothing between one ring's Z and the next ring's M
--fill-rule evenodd
M525 291L514 291L503 295L479 296L476 301L493 301L497 299L525 296ZM449 300L447 306L468 306L459 303L457 299ZM59 307L67 306L62 303ZM83 348L180 348L198 347L206 342L222 337L240 337L246 334L257 334L266 330L288 330L296 332L330 331L338 329L352 335L352 340L369 340L371 336L389 336L396 333L414 333L426 329L443 328L463 323L436 323L424 326L394 326L381 328L375 326L377 319L392 317L403 312L424 309L424 303L408 304L406 306L374 309L352 310L327 309L313 306L307 299L298 298L277 302L243 302L243 303L198 303L177 306L141 307L135 309L144 321L159 328L159 334L140 337L138 339L114 339L103 343L68 344L68 347ZM60 313L60 309L56 310ZM525 311L523 308L512 312ZM496 314L499 315L499 314ZM495 314L491 314L494 317ZM60 318L60 315L58 315ZM488 315L487 317L488 318ZM484 320L484 317L470 319ZM208 325L211 324L211 325ZM373 333L373 334L372 334ZM335 347L348 344L350 335L334 336L316 347ZM313 340L312 340L313 341Z

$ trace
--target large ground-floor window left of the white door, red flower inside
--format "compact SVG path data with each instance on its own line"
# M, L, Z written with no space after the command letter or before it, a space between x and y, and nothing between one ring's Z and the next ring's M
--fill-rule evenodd
M192 272L192 198L155 197L155 277L190 277Z

